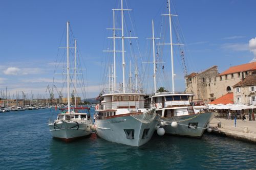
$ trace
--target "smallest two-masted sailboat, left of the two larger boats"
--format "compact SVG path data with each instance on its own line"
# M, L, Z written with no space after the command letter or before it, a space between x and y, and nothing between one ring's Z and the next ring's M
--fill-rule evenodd
M88 136L92 133L90 127L92 120L87 113L76 112L75 108L71 111L70 107L70 66L69 66L69 22L67 22L67 94L68 94L68 108L67 111L62 110L57 119L52 122L49 121L50 132L53 137L60 138L65 141L70 141L75 138ZM76 40L75 40L75 62L76 62ZM75 64L76 75L76 64ZM76 88L75 88L76 90Z

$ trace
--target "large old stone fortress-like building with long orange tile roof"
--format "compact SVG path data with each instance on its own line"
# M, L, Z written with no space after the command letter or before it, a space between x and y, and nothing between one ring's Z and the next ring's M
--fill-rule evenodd
M256 75L256 62L229 67L221 74L218 73L217 66L212 66L198 74L193 72L188 75L186 77L186 92L193 92L194 99L211 102L227 93L235 94L233 86L250 75ZM234 103L236 103L236 99L234 99Z

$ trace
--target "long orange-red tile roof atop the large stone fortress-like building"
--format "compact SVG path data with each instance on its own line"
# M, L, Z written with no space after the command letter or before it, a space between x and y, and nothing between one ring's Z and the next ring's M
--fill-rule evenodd
M248 70L256 70L256 62L229 67L226 71L222 72L218 76L228 75L228 74L243 72Z

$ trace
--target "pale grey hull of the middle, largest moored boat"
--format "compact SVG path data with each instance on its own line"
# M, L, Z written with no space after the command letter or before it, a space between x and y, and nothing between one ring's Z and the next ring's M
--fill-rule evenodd
M111 142L139 147L148 142L153 136L158 124L158 118L159 116L156 116L148 124L142 123L130 115L96 119L96 133L99 137ZM127 138L125 130L134 130L132 139ZM146 131L147 133L145 134Z

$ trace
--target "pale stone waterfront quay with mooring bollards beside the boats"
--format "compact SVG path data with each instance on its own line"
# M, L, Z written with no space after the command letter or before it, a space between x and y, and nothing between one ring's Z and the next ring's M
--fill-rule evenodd
M218 128L218 123L221 123L221 128ZM256 121L249 121L245 119L237 119L237 125L234 125L234 119L214 118L210 122L212 133L232 137L239 140L249 141L256 143ZM248 132L245 128L248 127Z

